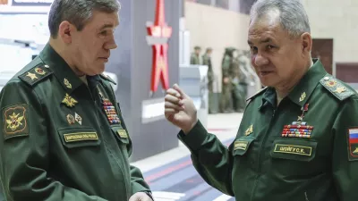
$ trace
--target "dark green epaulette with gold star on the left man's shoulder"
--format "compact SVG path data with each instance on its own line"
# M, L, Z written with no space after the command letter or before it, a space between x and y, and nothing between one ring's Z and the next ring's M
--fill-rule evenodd
M19 75L18 78L33 87L41 80L47 79L52 73L53 71L51 71L45 63L39 63L29 71L25 71Z

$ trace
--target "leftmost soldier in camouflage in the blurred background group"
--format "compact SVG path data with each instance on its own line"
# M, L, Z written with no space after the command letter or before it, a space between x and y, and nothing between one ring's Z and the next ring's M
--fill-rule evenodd
M232 77L233 66L233 47L227 47L221 63L222 71L222 86L220 97L220 113L232 113L233 109L233 97L232 97Z

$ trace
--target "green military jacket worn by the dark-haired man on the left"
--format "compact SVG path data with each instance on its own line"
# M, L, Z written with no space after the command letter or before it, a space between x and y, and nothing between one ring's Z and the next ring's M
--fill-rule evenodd
M47 45L0 94L0 175L8 201L127 201L149 191L105 76L87 86Z

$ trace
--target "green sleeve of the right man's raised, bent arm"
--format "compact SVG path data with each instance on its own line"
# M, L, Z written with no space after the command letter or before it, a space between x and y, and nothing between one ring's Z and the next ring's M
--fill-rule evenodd
M193 127L188 134L181 130L178 138L192 153L192 164L200 176L213 188L234 196L231 172L233 156L231 146L227 148L213 134L208 133L201 122Z

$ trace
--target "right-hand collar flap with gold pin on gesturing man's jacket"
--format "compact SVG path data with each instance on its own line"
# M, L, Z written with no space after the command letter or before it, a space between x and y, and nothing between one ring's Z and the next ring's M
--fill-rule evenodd
M300 82L288 94L288 98L296 105L303 107L310 98L313 90L320 83L320 80L327 74L319 59L313 59L313 65L303 76Z

